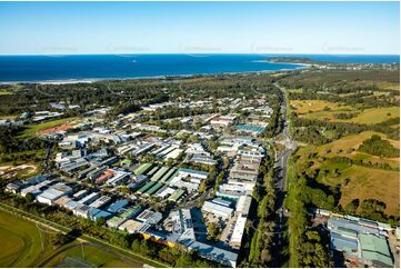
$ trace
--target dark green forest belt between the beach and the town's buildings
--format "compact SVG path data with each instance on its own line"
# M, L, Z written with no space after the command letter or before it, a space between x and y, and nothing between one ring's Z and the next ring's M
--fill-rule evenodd
M249 98L274 89L270 74L219 74L190 78L138 79L96 81L66 84L2 84L0 90L11 92L0 99L0 116L24 111L52 110L50 103L78 104L82 110L112 106L111 113L137 111L141 106L180 100L210 98Z

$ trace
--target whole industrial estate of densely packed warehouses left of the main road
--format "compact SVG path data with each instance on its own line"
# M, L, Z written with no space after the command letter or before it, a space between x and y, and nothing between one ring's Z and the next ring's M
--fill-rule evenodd
M58 143L52 161L59 178L38 176L9 183L7 190L20 196L31 193L37 202L59 207L79 218L103 220L111 229L141 233L170 247L179 243L207 259L235 267L251 193L265 156L263 146L252 138L265 128L255 114L262 117L270 108L264 100L257 100L258 109L248 109L248 118L243 119L242 114L223 109L227 103L233 109L250 104L239 98L170 101L149 104L110 122L103 118L110 108L86 111L82 123L41 134ZM208 111L215 106L224 112ZM71 109L64 103L51 107L57 112L36 116L44 120ZM141 114L149 119L158 110L177 107L203 108L205 113L174 118L184 123L182 130L162 129L162 122L172 119L141 119ZM241 123L244 120L247 123ZM247 137L238 136L243 133ZM207 142L209 139L215 141L213 148ZM220 172L223 159L230 162L223 182L215 193L209 192L212 197L207 201L197 199L203 182L215 181L209 177L217 173L210 171L214 167ZM156 210L160 208L163 210ZM218 242L204 236L209 222L222 230Z

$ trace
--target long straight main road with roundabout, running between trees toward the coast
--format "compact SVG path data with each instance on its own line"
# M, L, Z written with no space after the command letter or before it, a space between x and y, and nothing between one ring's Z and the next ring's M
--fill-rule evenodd
M274 175L273 182L274 188L277 191L277 201L275 201L275 230L274 230L274 251L273 251L273 266L274 267L282 267L284 262L284 257L282 257L282 250L284 246L284 238L283 235L285 232L285 208L284 208L284 199L287 193L287 169L288 169L288 161L292 155L292 152L297 149L298 143L292 140L291 133L289 130L289 119L287 118L287 94L285 89L280 87L279 84L274 83L277 88L281 90L283 96L283 103L281 106L281 112L283 114L283 123L281 127L281 136L283 140L274 142L281 143L284 146L282 151L277 152L275 155L275 162L274 169L278 171Z

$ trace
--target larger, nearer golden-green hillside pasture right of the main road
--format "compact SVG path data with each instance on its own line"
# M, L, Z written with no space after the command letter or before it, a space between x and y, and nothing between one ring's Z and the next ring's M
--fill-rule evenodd
M310 170L320 169L330 171L327 176L319 176L318 182L325 186L341 186L341 199L340 205L345 206L352 199L368 199L373 198L385 202L385 213L397 215L400 209L400 165L399 158L379 158L362 152L350 151L349 149L358 149L359 145L370 138L375 132L362 132L360 134L347 136L342 139L333 141L328 145L314 147L307 146L298 151L300 159L297 161L298 170L305 170L304 163L313 161ZM380 133L378 133L380 134ZM380 134L383 139L384 134ZM389 139L388 139L389 140ZM389 140L394 147L399 148L399 141ZM311 158L311 153L318 153L315 158ZM351 159L370 160L373 163L387 162L398 170L383 170L378 168L369 168L355 165L339 163L329 160L334 156L343 156ZM325 160L321 159L322 157ZM333 171L340 172L340 176L335 176ZM307 169L308 170L308 169ZM351 179L347 186L343 180L345 178ZM389 188L391 187L391 188Z

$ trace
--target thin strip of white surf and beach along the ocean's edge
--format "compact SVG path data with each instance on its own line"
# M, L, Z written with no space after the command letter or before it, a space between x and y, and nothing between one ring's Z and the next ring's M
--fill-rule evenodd
M267 61L263 61L267 62ZM277 62L280 63L280 62ZM287 63L287 62L283 62ZM299 66L293 69L279 69L279 70L261 70L261 71L240 71L240 72L218 72L218 73L191 73L191 74L164 74L164 76L150 76L150 77L128 77L128 78L87 78L87 79L60 79L60 80L26 80L26 81L0 81L0 84L76 84L76 83L93 83L98 81L108 80L140 80L140 79L166 79L171 77L179 78L192 78L197 76L218 76L218 74L247 74L247 73L270 73L270 72L282 72L282 71L294 71L303 68L309 68L311 64L302 63L287 63Z

